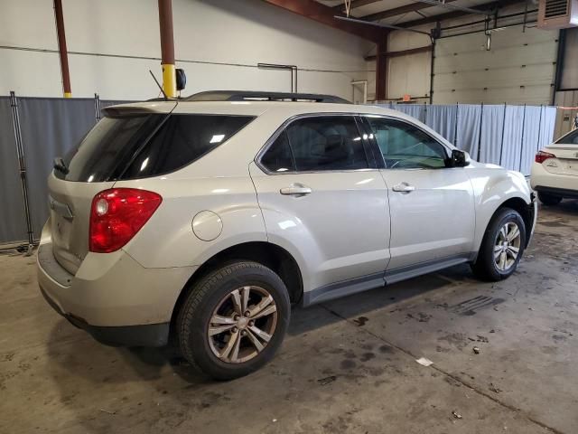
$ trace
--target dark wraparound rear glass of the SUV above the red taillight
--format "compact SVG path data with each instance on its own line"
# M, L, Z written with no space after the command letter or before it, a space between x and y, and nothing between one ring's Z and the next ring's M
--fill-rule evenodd
M64 158L67 181L103 182L175 171L234 136L254 117L150 114L102 118Z

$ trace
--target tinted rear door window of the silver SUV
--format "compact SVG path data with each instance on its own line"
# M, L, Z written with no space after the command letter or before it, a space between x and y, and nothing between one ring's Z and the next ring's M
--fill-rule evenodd
M271 172L317 172L368 168L355 119L315 116L297 119L261 158Z

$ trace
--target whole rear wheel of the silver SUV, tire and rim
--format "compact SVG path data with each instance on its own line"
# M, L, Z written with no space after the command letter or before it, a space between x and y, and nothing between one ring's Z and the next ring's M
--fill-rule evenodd
M283 281L251 261L223 266L201 278L177 317L182 355L217 380L252 373L283 342L290 302Z

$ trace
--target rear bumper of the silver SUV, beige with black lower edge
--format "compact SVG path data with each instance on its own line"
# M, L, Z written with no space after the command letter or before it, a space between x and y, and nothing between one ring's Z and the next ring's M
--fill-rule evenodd
M37 258L42 296L70 323L104 344L166 344L172 310L194 268L144 269L123 250L89 253L76 275L54 259L51 242Z

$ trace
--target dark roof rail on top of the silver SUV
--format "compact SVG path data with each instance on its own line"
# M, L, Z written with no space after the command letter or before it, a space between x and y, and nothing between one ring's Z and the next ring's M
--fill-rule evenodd
M265 92L256 90L208 90L195 93L183 101L297 101L351 104L347 99L316 93Z

